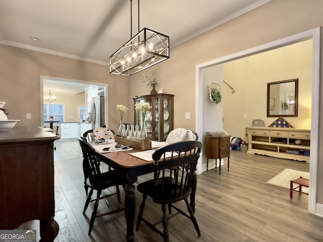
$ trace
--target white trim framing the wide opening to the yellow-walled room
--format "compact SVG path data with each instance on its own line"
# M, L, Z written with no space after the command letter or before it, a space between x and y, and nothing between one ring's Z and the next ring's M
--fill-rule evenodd
M318 102L319 102L319 53L320 53L320 28L315 28L312 30L308 30L293 36L289 36L274 42L270 42L264 45L257 46L255 48L247 49L235 54L231 54L228 56L224 56L218 59L214 59L212 61L202 63L196 65L195 68L195 83L196 83L196 127L195 130L198 134L204 134L206 131L203 130L202 120L203 120L203 76L202 70L216 66L219 64L223 64L226 62L230 62L233 59L242 58L246 56L253 55L255 53L260 53L268 50L272 50L275 48L283 47L286 45L294 44L297 42L301 42L307 39L313 40L313 73L312 73L312 112L311 112L311 130L318 130ZM317 178L317 153L318 153L318 132L311 132L311 148L310 148L310 189L309 189L309 199L308 199L308 210L311 213L315 213L315 202L316 202L316 178ZM201 154L201 157L204 157L205 154ZM197 167L197 173L202 172L202 163L199 162Z

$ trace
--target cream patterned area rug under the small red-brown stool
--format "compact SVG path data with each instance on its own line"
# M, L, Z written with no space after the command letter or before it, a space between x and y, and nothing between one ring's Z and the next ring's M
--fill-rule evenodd
M293 169L285 169L272 179L268 180L266 184L275 185L282 188L290 189L290 181L295 180L302 176L303 178L309 179L309 172L293 170ZM294 184L294 188L297 187L297 184ZM308 188L302 187L302 192L308 193Z

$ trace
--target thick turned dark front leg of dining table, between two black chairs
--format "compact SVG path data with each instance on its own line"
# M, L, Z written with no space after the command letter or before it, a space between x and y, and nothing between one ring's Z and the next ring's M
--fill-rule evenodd
M134 241L133 225L135 221L135 211L136 211L136 198L135 198L135 186L132 184L127 184L124 188L125 190L125 214L127 222L127 242Z

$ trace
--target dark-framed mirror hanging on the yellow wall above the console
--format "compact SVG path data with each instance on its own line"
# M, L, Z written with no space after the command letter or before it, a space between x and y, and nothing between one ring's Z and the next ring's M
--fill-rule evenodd
M298 79L267 83L267 117L298 116Z

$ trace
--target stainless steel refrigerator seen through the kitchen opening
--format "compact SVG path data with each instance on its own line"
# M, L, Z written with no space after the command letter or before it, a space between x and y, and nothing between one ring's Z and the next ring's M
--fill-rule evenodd
M104 96L96 96L91 101L92 129L104 127Z

